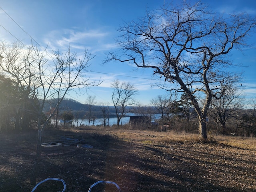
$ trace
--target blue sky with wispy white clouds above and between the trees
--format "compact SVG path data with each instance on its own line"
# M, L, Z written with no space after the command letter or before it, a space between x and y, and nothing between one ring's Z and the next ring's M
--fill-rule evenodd
M88 70L90 79L104 80L97 87L82 90L82 94L70 94L70 98L82 103L89 95L96 96L98 102L112 104L114 79L134 84L138 89L136 99L140 104L148 105L150 100L166 92L154 84L162 82L152 75L152 70L137 69L128 64L110 62L102 66L106 53L115 50L116 29L124 22L144 16L146 10L160 8L163 4L180 4L183 0L0 0L0 39L15 42L16 38L24 44L30 44L30 36L40 46L55 50L66 50L78 54L88 48L96 57ZM190 2L197 2L191 0ZM256 16L256 1L252 0L214 0L202 1L216 12L248 12ZM15 22L14 22L15 21ZM23 29L21 29L21 28ZM238 71L244 71L243 88L248 97L256 96L256 35L250 36L252 45L244 52L234 50L230 60L234 64L244 64ZM29 34L29 35L28 35Z

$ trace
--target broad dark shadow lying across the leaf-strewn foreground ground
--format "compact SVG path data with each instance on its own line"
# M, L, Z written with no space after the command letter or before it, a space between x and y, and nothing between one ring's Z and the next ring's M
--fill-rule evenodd
M57 135L65 134L74 132L49 131L44 139L48 142ZM234 172L225 173L222 168L226 166L227 170L237 169L239 172L245 172L246 169L224 163L218 166L219 162L200 159L200 156L207 157L206 152L197 152L194 148L178 144L174 144L171 150L167 146L124 141L113 134L97 133L95 130L85 130L79 134L82 134L86 144L93 147L68 146L63 147L62 153L41 156L37 182L49 177L61 178L66 182L66 192L86 192L99 180L116 182L122 192L243 191L232 186L220 187L218 181L214 181L218 176L207 178L207 171L214 166L212 169L216 169L220 175L232 176ZM26 145L23 139L17 142ZM19 150L26 146L20 147ZM15 148L11 153L0 152L1 168L5 170L0 175L0 191L31 191L34 186L29 184L29 178L35 155L20 154ZM231 161L231 158L227 160ZM61 183L50 182L40 186L37 191L54 192L60 189ZM103 190L117 191L113 186L99 185L92 192Z

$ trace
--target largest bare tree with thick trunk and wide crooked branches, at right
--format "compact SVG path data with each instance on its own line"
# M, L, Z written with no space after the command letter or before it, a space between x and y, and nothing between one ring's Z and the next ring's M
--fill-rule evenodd
M246 14L218 15L201 4L174 7L171 4L148 12L136 22L119 28L118 56L108 53L106 62L132 62L138 68L151 68L172 86L185 92L199 121L199 134L207 138L206 117L210 102L221 92L220 80L232 79L227 54L246 46L246 37L255 21ZM199 98L204 98L202 106Z

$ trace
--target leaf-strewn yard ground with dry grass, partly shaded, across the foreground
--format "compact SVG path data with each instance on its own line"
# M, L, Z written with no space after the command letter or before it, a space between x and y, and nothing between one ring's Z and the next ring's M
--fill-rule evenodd
M61 178L66 192L87 192L99 180L122 192L250 192L256 190L256 140L216 136L200 142L186 133L90 128L45 130L43 142L58 135L82 136L88 147L63 146L42 152L36 181ZM30 192L37 132L0 134L0 191ZM99 184L93 191L118 191ZM45 182L36 191L62 191Z

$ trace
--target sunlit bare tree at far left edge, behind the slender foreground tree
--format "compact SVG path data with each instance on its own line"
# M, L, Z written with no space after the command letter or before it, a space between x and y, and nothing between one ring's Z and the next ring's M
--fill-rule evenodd
M33 86L32 78L35 72L28 71L32 64L24 62L24 60L27 60L28 55L23 52L18 43L10 45L2 42L0 44L0 55L2 56L0 60L2 72L15 81L15 86L20 92L20 96L18 96L19 102L14 107L16 109L14 129L22 130L29 126L26 119L27 114L32 112L31 104L34 102L34 94L30 90L30 86ZM23 63L23 65L14 65L14 63Z

